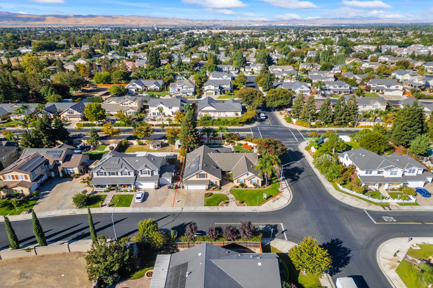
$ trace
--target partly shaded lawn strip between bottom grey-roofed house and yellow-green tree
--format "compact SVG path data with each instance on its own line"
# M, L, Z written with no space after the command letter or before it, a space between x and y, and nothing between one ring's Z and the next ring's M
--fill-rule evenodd
M317 276L304 276L300 271L296 270L291 259L287 256L287 251L280 251L277 248L269 245L263 246L264 253L277 253L280 259L284 262L288 269L288 277L286 282L293 283L298 288L315 288L321 287L319 277Z

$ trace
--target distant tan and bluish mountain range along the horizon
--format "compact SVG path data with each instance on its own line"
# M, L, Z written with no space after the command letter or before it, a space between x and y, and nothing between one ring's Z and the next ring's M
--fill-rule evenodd
M312 18L273 21L252 20L192 20L180 18L162 18L136 15L31 15L0 12L0 26L9 25L141 25L141 26L249 26L249 25L331 25L331 24L397 24L419 23L420 21L402 21L380 19L378 17L355 16L350 18ZM425 22L425 21L423 21ZM430 20L433 22L433 19Z

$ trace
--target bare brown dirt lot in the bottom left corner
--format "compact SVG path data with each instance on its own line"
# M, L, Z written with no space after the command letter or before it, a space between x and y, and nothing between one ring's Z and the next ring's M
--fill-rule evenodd
M91 287L83 252L0 260L1 287ZM62 276L63 275L63 276Z

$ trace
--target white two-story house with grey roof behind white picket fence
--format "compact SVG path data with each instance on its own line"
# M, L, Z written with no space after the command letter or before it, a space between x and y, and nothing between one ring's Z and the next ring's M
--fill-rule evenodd
M432 182L433 174L424 166L407 155L378 155L372 151L358 148L338 155L343 165L356 166L356 174L362 185L384 189L396 188L406 184L409 187L423 187Z

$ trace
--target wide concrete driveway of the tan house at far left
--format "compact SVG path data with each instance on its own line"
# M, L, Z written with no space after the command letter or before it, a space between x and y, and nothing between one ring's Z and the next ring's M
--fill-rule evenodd
M72 196L75 193L83 191L84 189L90 190L86 187L87 184L80 183L79 180L73 178L55 178L48 180L48 182L37 190L39 193L39 201L33 207L35 212L46 212L61 209L74 209L72 203Z

